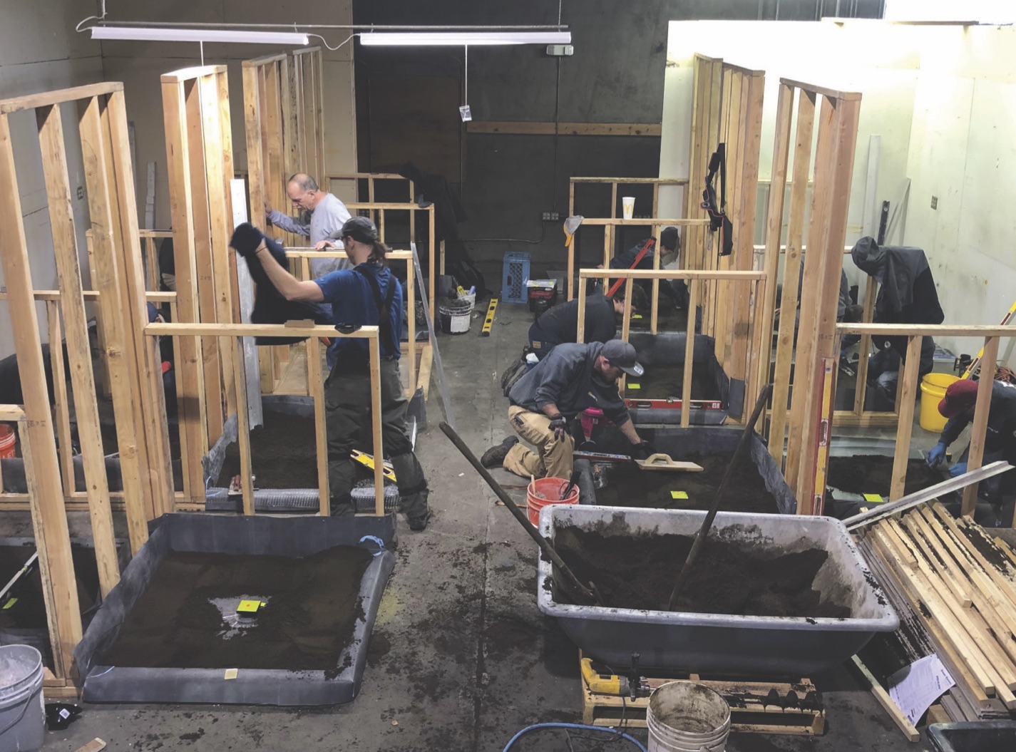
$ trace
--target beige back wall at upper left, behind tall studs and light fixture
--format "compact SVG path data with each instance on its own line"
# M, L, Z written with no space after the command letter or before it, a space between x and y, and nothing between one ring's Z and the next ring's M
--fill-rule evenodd
M126 3L122 3L127 7ZM124 16L120 11L120 16ZM133 13L131 17L136 16ZM126 16L124 16L126 17ZM348 24L353 22L352 0L308 0L293 3L269 0L223 0L201 4L195 0L146 5L144 18L158 21L188 20L218 23ZM328 45L337 46L348 33L325 33ZM321 40L312 38L311 45ZM353 43L337 51L324 48L324 114L326 167L333 172L354 172L357 163L356 105L353 71ZM229 66L230 109L233 125L233 155L238 172L247 170L247 140L244 134L243 81L241 62L285 50L279 46L205 45L205 64ZM104 42L103 70L108 80L124 82L127 116L134 124L136 173L138 175L138 216L144 223L145 171L155 165L155 227L170 226L169 184L166 173L166 138L163 124L163 95L160 76L178 68L199 65L196 43ZM315 176L318 177L318 176Z

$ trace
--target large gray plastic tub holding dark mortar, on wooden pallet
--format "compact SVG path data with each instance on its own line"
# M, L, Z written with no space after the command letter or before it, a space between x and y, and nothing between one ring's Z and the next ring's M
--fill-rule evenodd
M552 541L558 528L572 525L605 536L694 535L704 517L705 512L699 511L555 504L541 511L539 529ZM539 610L556 617L585 655L619 671L630 664L632 652L638 652L643 666L656 669L809 676L850 657L876 632L892 632L899 626L899 618L837 519L719 512L709 535L780 553L816 547L828 551L816 587L827 598L849 605L851 617L726 616L571 606L555 600L553 566L543 557L536 588Z

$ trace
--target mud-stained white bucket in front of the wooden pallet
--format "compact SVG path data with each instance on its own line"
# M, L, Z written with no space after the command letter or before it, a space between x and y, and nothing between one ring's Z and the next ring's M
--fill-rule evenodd
M649 752L723 752L731 734L731 706L718 693L693 682L657 688L646 710Z

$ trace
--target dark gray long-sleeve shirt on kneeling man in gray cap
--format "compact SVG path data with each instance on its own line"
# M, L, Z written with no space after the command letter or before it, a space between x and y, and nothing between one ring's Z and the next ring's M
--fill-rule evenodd
M617 426L623 426L631 416L617 383L607 383L593 372L602 349L602 342L559 344L515 383L509 398L533 413L553 402L566 418L574 418L586 408L599 408Z

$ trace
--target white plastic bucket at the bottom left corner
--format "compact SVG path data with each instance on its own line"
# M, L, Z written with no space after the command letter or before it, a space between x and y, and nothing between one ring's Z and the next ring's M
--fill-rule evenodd
M30 645L0 647L0 752L43 746L43 656Z

